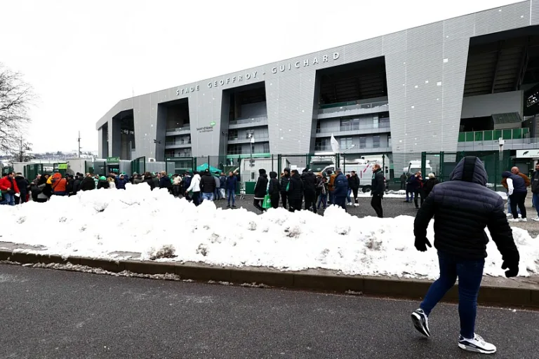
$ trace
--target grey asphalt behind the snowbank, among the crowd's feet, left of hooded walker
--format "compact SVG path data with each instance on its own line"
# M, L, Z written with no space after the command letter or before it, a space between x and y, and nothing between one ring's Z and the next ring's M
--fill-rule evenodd
M376 213L371 207L371 197L361 197L358 199L358 203L358 207L347 206L347 212L358 217L376 216ZM215 205L225 209L227 208L227 201L215 201ZM237 197L236 205L237 208L243 207L251 212L260 213L260 210L257 210L253 206L253 196L245 196L243 200L240 200L239 197ZM280 204L280 206L282 206L282 204ZM303 208L305 208L305 203L303 203ZM382 201L382 208L384 209L384 217L397 217L400 215L410 215L415 217L415 213L417 212L413 203L404 203L404 198L384 198ZM320 210L319 213L323 215L324 210Z

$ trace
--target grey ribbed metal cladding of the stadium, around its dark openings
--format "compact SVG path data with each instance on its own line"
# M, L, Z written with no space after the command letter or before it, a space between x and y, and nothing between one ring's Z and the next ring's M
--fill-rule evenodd
M135 156L160 159L164 149L153 143L163 137L157 104L187 97L193 156L223 154L222 90L265 81L270 151L305 153L314 149L317 70L385 56L392 150L456 151L470 37L539 24L538 3L510 4L123 100L96 128L134 109ZM197 130L212 122L211 130Z

